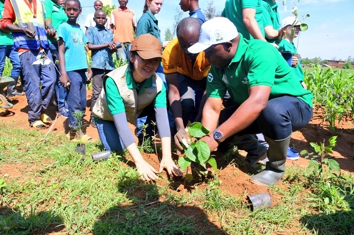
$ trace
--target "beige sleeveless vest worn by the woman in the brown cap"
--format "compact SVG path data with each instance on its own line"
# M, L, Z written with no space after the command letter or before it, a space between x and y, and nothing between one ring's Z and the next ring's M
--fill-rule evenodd
M103 84L106 83L108 77L111 77L119 90L119 95L123 100L125 107L126 120L134 123L138 116L143 112L144 108L153 103L157 94L162 90L163 82L156 73L152 75L152 86L145 87L139 93L136 88L128 88L126 84L125 71L128 65L119 67L103 77ZM113 121L112 115L109 113L105 89L102 89L99 98L96 101L93 114L103 120Z

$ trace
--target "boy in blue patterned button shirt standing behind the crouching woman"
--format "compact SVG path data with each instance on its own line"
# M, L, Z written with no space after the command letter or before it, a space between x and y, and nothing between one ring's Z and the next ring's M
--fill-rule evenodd
M114 69L112 53L117 51L116 46L120 43L113 42L113 33L106 29L107 15L102 10L97 10L94 15L96 26L90 27L86 31L87 47L92 51L92 98L91 109L103 87L103 76ZM96 128L93 113L91 113L90 124Z

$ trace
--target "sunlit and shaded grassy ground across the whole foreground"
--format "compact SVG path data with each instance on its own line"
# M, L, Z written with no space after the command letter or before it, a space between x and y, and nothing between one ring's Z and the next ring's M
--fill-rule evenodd
M62 135L0 129L0 169L22 169L0 178L0 234L354 234L351 175L287 168L271 187L279 202L252 212L217 177L177 192L167 178L142 182L124 156L95 163Z

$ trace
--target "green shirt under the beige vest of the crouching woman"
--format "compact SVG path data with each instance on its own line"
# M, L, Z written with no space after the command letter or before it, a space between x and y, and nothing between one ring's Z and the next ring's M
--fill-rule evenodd
M129 89L137 89L138 95L144 91L145 87L152 87L153 80L152 76L145 79L145 81L139 87L137 83L135 83L132 74L126 70L125 71L125 79L126 84ZM120 96L119 90L115 82L111 77L108 77L105 83L105 92L106 92L106 99L107 99L107 107L110 114L113 116L114 114L118 113L125 113L125 107L123 103L123 99ZM162 85L162 90L157 94L156 98L154 99L154 107L158 108L166 108L166 88Z

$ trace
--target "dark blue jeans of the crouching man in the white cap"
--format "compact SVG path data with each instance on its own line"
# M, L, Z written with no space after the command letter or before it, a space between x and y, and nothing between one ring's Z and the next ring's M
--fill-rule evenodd
M220 112L219 124L224 123L231 117L238 107L239 105L234 105ZM309 107L302 100L291 96L278 97L269 100L258 118L247 128L236 134L262 133L264 136L274 140L285 139L293 131L307 125L312 115L312 107Z

